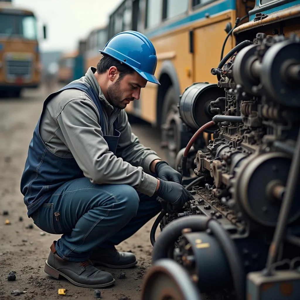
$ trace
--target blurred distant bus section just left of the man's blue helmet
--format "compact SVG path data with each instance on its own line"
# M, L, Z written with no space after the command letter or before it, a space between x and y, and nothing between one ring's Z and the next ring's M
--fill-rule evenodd
M86 39L86 48L84 54L85 69L96 67L101 57L99 52L107 43L107 27L93 29Z

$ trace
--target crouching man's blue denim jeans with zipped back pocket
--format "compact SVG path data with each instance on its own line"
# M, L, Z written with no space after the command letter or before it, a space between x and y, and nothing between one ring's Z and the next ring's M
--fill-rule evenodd
M126 184L66 182L32 214L45 232L62 234L55 249L70 261L85 261L98 246L110 248L129 238L161 210L156 196Z

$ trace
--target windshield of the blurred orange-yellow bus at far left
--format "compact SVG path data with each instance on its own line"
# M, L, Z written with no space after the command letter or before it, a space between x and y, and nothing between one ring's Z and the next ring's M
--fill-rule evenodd
M0 35L22 37L28 40L37 39L36 19L29 15L0 13Z

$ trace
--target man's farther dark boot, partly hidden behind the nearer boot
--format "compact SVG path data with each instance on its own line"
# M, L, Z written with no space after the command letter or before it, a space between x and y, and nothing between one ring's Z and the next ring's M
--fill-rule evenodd
M94 265L105 265L113 269L125 269L137 264L133 253L119 252L115 247L110 249L96 247L90 255Z

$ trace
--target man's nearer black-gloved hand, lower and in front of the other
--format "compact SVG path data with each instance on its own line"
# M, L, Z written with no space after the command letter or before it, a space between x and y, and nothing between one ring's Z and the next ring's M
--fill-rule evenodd
M159 181L156 194L168 202L167 210L174 213L182 208L185 202L193 200L194 197L181 184L171 181Z

